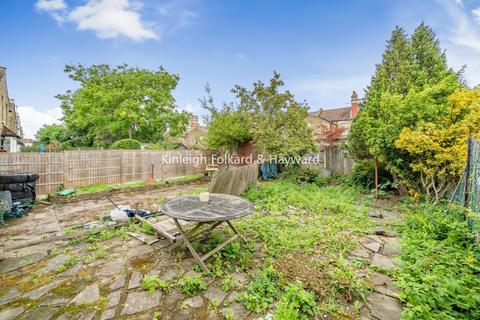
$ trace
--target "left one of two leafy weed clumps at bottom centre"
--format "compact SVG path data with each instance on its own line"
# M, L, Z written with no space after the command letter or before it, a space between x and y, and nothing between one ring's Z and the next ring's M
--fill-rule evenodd
M245 307L249 311L261 312L278 298L280 275L273 267L263 269L247 286L247 290L240 295Z

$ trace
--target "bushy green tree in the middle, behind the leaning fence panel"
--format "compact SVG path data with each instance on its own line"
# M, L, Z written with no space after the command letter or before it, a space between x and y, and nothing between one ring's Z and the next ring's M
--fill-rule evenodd
M284 85L280 74L274 72L268 84L257 81L252 89L235 86L235 104L216 109L212 99L204 99L202 104L211 114L207 143L231 150L251 140L259 153L278 157L313 150L308 109L290 91L281 91Z

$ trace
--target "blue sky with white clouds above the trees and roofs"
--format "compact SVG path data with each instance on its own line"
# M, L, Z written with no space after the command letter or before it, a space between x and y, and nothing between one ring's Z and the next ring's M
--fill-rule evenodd
M361 96L393 28L425 21L449 65L480 83L480 0L1 0L0 12L0 65L27 138L59 122L55 95L76 88L66 64L163 66L180 76L177 105L198 115L206 83L221 105L275 70L318 110Z

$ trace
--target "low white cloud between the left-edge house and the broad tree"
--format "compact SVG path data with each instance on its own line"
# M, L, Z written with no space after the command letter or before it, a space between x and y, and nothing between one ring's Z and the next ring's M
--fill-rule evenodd
M60 123L62 110L59 107L48 109L45 111L37 110L34 107L17 107L20 114L25 138L33 139L35 133L44 124Z

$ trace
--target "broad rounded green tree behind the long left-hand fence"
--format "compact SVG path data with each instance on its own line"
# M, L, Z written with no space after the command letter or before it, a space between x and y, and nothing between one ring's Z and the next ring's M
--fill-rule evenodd
M179 77L163 68L79 64L65 72L79 88L57 98L77 145L107 146L125 138L157 142L186 129L189 115L177 110L172 96Z

